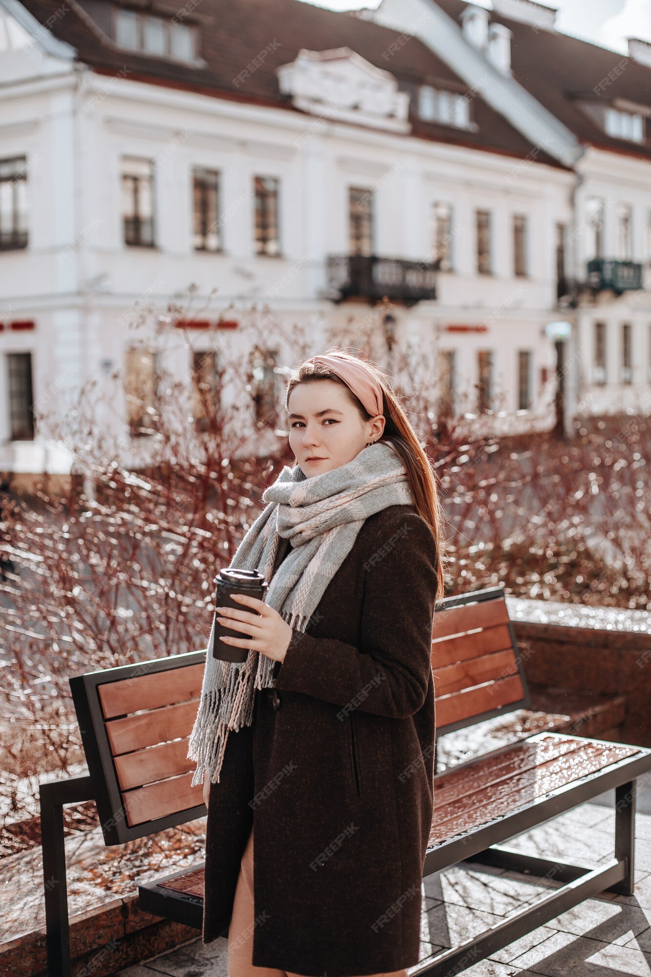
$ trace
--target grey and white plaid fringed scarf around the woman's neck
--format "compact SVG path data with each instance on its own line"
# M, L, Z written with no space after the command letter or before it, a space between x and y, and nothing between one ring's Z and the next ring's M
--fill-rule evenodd
M292 627L305 631L365 520L389 505L409 505L412 492L403 462L386 439L312 478L298 465L285 465L262 498L267 505L239 543L231 568L261 573L269 582L266 603ZM293 549L274 573L288 540ZM272 685L276 664L253 649L243 662L213 658L216 616L188 750L197 763L192 786L203 782L205 772L212 783L219 783L228 734L251 725L254 689Z

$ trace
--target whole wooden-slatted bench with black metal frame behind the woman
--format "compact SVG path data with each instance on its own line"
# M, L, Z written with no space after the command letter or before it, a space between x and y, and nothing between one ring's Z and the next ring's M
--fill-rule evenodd
M186 756L204 660L205 651L193 652L70 679L89 776L40 787L51 977L70 975L63 805L95 799L107 845L206 814L202 787L190 786L195 764ZM442 603L434 616L432 666L435 757L441 735L529 706L502 587ZM421 961L418 975L460 972L604 890L631 895L636 780L649 770L651 749L545 732L436 773L425 876L472 862L561 884L485 933ZM576 866L503 846L610 788L616 799L610 862ZM52 878L60 884L48 884ZM140 909L200 932L202 864L143 882L138 893Z

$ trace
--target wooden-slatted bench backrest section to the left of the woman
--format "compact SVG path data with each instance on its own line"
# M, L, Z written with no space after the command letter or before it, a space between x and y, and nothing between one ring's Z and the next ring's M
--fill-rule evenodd
M108 845L205 815L187 757L204 663L190 652L69 680Z

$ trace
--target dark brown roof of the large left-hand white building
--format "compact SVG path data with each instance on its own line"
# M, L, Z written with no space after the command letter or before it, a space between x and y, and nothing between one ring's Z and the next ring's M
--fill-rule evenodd
M53 0L21 2L40 22L45 22L52 14ZM85 2L92 9L89 0ZM97 4L98 0L93 2ZM123 3L123 0L116 2L123 6L135 6ZM192 4L188 6L192 7ZM69 12L65 17L52 23L54 35L76 48L81 62L111 74L126 66L127 77L132 80L291 108L279 91L276 68L292 62L301 48L325 51L349 47L371 64L391 71L401 89L412 93L412 106L416 89L423 81L438 81L453 90L467 91L467 86L454 71L416 38L404 43L405 35L398 31L301 0L202 0L197 5L195 20L201 35L200 54L207 63L203 68L115 49L94 27L81 3L68 0L66 7ZM176 0L172 4L168 0L153 0L147 9L177 13L179 7ZM191 21L192 14L187 19L187 22ZM395 53L392 51L384 57L397 39L403 43L399 43ZM272 42L277 43L273 45ZM263 64L249 78L236 84L234 79L242 68L268 47L275 47L275 50L269 52ZM473 99L471 114L478 125L476 132L424 122L412 110L412 134L422 139L501 152L518 158L526 157L534 149L528 139L480 97ZM535 153L534 158L553 166L559 165L542 152Z

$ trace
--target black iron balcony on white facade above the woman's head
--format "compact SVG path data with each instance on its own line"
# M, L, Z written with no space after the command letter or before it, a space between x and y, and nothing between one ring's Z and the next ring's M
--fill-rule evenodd
M334 302L387 298L412 306L436 298L437 270L436 262L375 255L328 255L327 295Z

